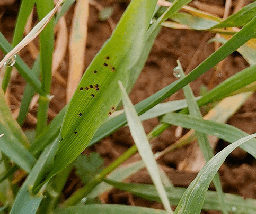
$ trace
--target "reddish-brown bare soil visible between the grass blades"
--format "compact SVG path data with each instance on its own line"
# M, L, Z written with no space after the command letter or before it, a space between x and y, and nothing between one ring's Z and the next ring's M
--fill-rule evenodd
M224 0L204 1L218 6L224 6ZM122 12L125 10L129 1L109 0L101 1L102 6L112 6L114 8L112 19L114 23L117 23ZM14 27L14 21L17 13L18 3L14 3L11 6L5 6L3 8L4 14L1 18L0 30L11 41L12 31ZM73 8L69 10L67 14L67 24L70 27L72 20ZM98 19L98 10L95 7L90 6L90 18L89 18L89 34L86 44L86 59L85 68L89 65L94 55L99 51L102 44L111 35L111 28L107 21L102 22ZM188 31L188 30L172 30L162 28L158 35L152 52L149 55L146 66L142 71L133 91L131 91L130 99L133 104L151 96L158 90L169 85L175 81L176 78L172 74L172 70L176 66L176 60L180 60L184 70L192 70L200 62L206 59L211 53L214 52L213 44L206 44L207 40L213 37L214 34ZM194 54L198 51L197 55ZM32 64L32 59L26 49L21 51L21 57ZM65 79L67 78L68 68L68 54L65 61L61 64L58 72ZM236 72L246 68L248 64L238 54L234 53L225 59L224 66L218 75L215 74L214 69L210 69L205 75L202 75L196 81L191 83L191 87L196 96L200 95L200 86L206 86L208 89L212 89L218 83L222 82L227 77L234 75ZM187 72L188 72L187 71ZM11 83L11 109L19 107L22 97L21 91L24 88L24 80L17 75ZM55 95L50 104L51 115L49 120L52 119L63 106L65 105L65 86L60 85L56 79L52 82L52 94ZM182 91L177 92L175 95L167 100L183 99ZM242 108L228 120L228 124L234 125L243 131L252 134L256 132L256 119L253 113L255 111L254 103L256 96L249 98ZM34 109L36 112L36 109ZM251 113L246 116L245 113ZM143 122L145 131L148 133L158 124L157 119L151 119L147 122ZM24 128L34 128L35 124L32 120L26 120ZM177 139L174 135L174 126L167 129L160 137L153 142L153 151L162 151L167 146L173 144ZM183 134L186 130L183 131ZM97 151L105 160L105 165L108 165L114 161L117 156L121 155L127 148L133 145L133 139L130 136L128 128L120 128L119 131L113 133L107 139L95 144L91 148L87 149L86 153L91 151ZM219 141L215 152L218 152L222 148L228 145L226 142ZM176 170L176 166L180 161L186 157L186 148L180 148L171 154L167 154L160 160L160 164L165 169L166 173L174 185L179 187L187 187L189 183L195 178L196 173L180 172ZM256 198L256 162L255 159L248 153L237 149L228 156L227 160L220 168L220 177L223 184L223 189L228 193L240 194L245 198ZM147 172L142 170L132 176L129 179L131 182L136 183L152 183ZM80 187L81 184L77 183L77 178L74 174L70 175L69 184L66 185L64 194L68 197L74 189ZM148 202L131 194L123 193L119 190L112 190L108 194L107 203L120 203L120 204L135 204L137 206L147 206L153 208L162 208L160 203ZM204 213L219 213L213 211L204 211Z

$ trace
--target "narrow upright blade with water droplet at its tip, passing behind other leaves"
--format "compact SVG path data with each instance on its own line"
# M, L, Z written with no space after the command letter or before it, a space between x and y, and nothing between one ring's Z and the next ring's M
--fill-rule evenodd
M178 62L181 78L185 77L185 74L183 72L180 61L177 61L177 62ZM189 108L190 115L193 115L197 118L202 118L200 109L197 105L197 102L196 102L195 97L193 95L193 91L190 88L189 84L187 86L183 87L183 93L184 93L184 95L186 97L186 100L187 100L187 103L188 103L188 108ZM196 131L195 133L196 133L196 136L197 136L197 139L198 139L198 144L200 146L202 154L204 155L204 159L207 162L211 159L211 157L214 156L213 150L211 149L210 143L208 141L208 137L207 137L206 134L198 132L198 131ZM215 187L215 189L217 191L217 194L218 194L219 203L222 206L222 212L227 214L227 211L226 211L225 206L223 204L222 184L220 182L220 178L219 178L218 174L216 174L214 176L213 183L214 183L214 187Z

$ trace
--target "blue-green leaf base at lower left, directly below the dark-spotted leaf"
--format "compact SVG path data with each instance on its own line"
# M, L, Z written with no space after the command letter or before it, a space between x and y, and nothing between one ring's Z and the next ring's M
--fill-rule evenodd
M38 207L42 201L43 197L43 189L39 191L38 194L32 193L32 187L34 182L38 179L38 177L43 176L43 172L49 171L50 161L52 156L56 152L56 145L58 142L55 141L51 145L49 145L45 151L41 154L36 164L34 164L33 169L25 182L22 184L19 192L17 193L16 199L14 201L13 207L11 209L10 214L17 213L30 213L34 214L37 212Z

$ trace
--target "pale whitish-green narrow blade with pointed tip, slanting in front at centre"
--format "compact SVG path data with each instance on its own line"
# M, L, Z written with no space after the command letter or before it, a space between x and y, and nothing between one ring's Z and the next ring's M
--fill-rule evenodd
M157 192L161 198L164 208L168 213L172 213L170 203L167 199L166 192L164 190L163 183L160 178L160 172L156 164L154 154L149 145L146 133L142 126L142 123L139 120L139 117L136 113L136 110L133 107L128 95L126 94L125 88L123 88L121 81L119 81L119 86L122 91L122 103L125 108L125 114L131 136L133 136L134 142L138 148L139 154L142 157L143 162L146 165L147 171L151 176L153 183L157 189Z

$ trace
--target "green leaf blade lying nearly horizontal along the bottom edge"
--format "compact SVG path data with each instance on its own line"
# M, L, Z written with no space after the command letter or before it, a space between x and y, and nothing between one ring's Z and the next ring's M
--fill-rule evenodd
M152 209L146 207L136 207L117 204L93 204L77 205L74 207L64 207L55 210L55 214L166 214L165 210Z

